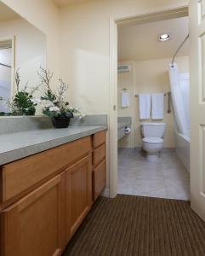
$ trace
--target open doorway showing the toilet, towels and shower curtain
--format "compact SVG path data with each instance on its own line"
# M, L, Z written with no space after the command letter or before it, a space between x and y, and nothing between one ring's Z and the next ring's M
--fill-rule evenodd
M118 26L119 194L190 200L188 34L187 15Z

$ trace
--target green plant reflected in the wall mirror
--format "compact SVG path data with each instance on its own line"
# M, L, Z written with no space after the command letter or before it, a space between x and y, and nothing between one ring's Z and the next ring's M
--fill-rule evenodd
M33 93L38 90L40 85L28 91L27 83L24 88L20 90L19 69L17 69L15 73L14 81L16 85L14 98L11 102L7 102L10 113L4 113L4 115L35 115L37 102L35 102L33 98Z

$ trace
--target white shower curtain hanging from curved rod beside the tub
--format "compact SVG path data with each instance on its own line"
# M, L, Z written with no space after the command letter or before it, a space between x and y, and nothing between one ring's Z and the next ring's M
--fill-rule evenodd
M169 65L169 79L171 85L172 102L174 108L174 116L176 124L179 128L179 133L189 136L189 129L185 115L185 107L180 90L179 70L177 64Z

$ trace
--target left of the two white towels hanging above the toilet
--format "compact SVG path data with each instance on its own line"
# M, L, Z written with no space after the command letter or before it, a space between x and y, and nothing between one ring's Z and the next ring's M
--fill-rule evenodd
M140 100L140 119L151 118L151 94L145 93L139 95Z

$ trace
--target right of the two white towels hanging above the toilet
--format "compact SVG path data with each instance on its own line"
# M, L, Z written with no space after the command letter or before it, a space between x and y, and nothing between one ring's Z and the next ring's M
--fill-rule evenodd
M163 93L153 93L151 95L151 118L163 119Z

